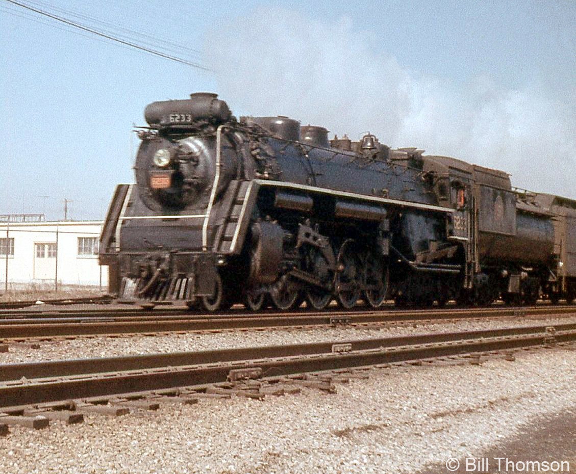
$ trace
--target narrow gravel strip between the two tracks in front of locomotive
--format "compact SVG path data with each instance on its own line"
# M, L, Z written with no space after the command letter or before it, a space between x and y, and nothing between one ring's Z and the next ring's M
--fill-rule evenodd
M496 329L500 327L543 326L545 324L576 323L570 318L506 319L454 323L418 323L415 326L340 326L310 328L267 328L264 330L222 331L211 333L135 335L129 337L96 337L40 342L39 349L26 345L10 345L9 352L0 353L0 364L75 358L114 357L129 354L199 351L236 347L286 345L349 339L386 338L430 332L456 332Z

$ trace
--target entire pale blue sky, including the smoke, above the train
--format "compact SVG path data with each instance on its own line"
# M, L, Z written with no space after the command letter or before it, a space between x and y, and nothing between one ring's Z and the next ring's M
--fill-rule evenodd
M370 130L576 198L574 1L25 3L153 48L178 43L173 54L210 71L0 0L0 214L59 219L67 198L74 219L102 219L133 179L146 104L194 91L237 115Z

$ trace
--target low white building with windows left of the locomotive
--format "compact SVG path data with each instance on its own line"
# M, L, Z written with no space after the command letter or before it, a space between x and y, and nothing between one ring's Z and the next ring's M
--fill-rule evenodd
M0 290L7 281L108 285L108 267L98 265L102 221L1 222ZM7 272L6 272L7 270Z

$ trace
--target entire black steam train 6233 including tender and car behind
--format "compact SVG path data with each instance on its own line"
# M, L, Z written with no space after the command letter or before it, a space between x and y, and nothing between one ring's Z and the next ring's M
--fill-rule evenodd
M120 300L208 311L533 304L576 294L576 202L502 171L288 117L237 120L215 94L153 102L100 237Z

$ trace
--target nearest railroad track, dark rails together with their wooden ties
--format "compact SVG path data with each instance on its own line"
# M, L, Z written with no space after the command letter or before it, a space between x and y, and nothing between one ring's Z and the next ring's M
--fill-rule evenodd
M351 369L499 354L576 341L576 323L384 339L0 365L0 435L8 425L81 422L213 397L263 399L302 386L335 391Z

